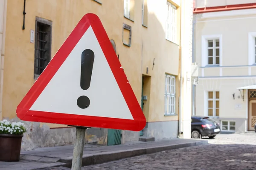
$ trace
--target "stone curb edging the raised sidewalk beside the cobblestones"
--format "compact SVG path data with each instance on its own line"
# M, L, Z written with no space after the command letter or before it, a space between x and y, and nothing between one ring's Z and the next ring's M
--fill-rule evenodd
M208 144L208 141L195 141L195 142L186 142L180 144L168 144L159 147L141 147L136 149L129 149L129 150L118 150L113 152L105 152L105 153L94 153L90 155L83 155L82 166L92 165L92 164L102 164L108 161L116 161L119 159L124 159L133 156L139 156L144 154L151 154L160 152L163 150L172 150L178 149L182 147L191 147L191 146L198 146L202 144ZM59 162L66 163L65 167L71 167L72 164L72 156L67 158L62 158Z

